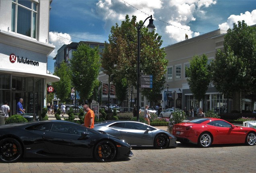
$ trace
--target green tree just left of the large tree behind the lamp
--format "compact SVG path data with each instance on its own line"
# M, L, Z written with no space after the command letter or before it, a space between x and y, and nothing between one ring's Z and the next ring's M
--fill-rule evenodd
M95 87L98 87L97 76L101 66L99 60L99 46L91 48L83 43L78 45L70 59L72 82L84 100L89 99Z

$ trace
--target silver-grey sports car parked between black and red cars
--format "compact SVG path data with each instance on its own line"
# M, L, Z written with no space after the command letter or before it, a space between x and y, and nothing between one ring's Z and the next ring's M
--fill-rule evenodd
M123 139L131 146L154 146L157 149L176 147L176 137L137 121L105 121L94 125L94 130Z

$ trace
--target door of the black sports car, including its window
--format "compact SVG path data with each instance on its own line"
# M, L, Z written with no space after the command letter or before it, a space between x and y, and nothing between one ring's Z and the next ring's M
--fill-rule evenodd
M51 131L43 133L43 142L52 154L58 155L91 155L91 137L87 135L85 139L79 140L81 132L87 129L70 124L54 123ZM89 132L89 131L87 131Z

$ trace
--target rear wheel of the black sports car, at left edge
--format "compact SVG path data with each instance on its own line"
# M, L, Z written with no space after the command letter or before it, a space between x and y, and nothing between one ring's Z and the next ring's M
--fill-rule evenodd
M12 138L0 141L0 159L3 162L17 161L22 155L22 147L19 141Z

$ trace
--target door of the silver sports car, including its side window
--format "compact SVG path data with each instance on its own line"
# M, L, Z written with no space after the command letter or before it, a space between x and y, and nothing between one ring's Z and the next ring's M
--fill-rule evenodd
M152 145L153 134L151 131L147 131L147 127L140 123L127 122L120 133L130 145Z

